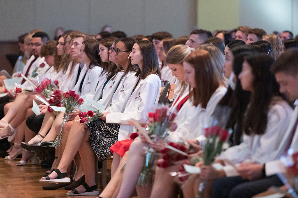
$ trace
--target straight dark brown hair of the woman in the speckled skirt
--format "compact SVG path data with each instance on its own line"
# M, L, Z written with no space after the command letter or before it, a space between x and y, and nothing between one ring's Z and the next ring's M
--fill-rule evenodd
M145 79L150 74L156 74L160 77L161 72L159 69L157 53L153 42L147 40L139 40L136 43L139 45L141 54L143 55L142 70L139 68L136 72L136 76L140 76L140 79Z

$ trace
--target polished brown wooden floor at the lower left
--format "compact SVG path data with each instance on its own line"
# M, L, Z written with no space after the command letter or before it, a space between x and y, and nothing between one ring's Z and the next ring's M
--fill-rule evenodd
M16 162L21 160L17 158L13 161L0 158L0 198L62 198L74 197L67 196L67 190L64 188L57 190L43 190L39 179L49 168L41 168L39 165L17 166ZM111 172L111 159L107 161L107 172ZM110 175L107 175L110 180ZM102 174L98 174L98 189L102 191ZM80 196L82 197L82 196ZM97 196L83 196L97 197Z

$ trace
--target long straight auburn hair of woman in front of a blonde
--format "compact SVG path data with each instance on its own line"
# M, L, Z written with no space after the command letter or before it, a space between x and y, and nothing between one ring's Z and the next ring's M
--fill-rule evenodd
M220 78L217 74L215 65L211 62L211 56L206 50L198 50L190 53L184 62L191 64L195 69L196 88L190 92L190 99L193 105L201 104L207 107L212 94L220 85Z

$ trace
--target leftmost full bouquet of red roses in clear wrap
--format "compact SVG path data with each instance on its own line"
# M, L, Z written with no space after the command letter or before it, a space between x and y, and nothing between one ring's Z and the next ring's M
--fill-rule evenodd
M49 99L49 96L54 93L55 90L58 90L59 88L57 87L58 81L51 80L51 77L49 74L46 76L44 75L39 75L36 77L37 80L37 88L35 88L35 91L38 94L43 95L46 99Z

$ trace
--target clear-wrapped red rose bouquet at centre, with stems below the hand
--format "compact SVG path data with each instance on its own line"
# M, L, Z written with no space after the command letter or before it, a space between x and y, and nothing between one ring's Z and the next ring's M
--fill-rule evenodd
M164 140L168 135L168 131L174 131L177 128L176 123L173 122L176 114L169 114L167 111L168 108L160 107L156 108L154 113L148 113L148 120L151 123L147 126L146 131L149 137L153 137L155 140ZM166 145L165 142L164 144ZM152 184L155 175L154 161L160 155L159 151L150 146L145 148L145 153L146 160L137 183L140 186Z

